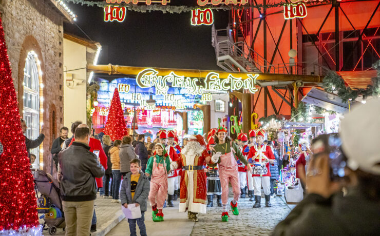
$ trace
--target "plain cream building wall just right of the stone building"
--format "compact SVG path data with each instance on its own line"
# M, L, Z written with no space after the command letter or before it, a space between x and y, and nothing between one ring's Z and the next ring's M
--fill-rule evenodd
M86 47L72 41L63 41L63 104L64 126L70 128L74 121L86 123ZM73 71L70 71L73 70ZM73 81L71 81L73 80Z

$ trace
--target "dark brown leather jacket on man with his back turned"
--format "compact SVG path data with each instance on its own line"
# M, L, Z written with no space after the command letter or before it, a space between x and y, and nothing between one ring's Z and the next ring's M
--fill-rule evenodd
M58 153L62 180L62 200L69 202L91 201L97 198L95 178L102 178L104 168L98 162L90 147L73 142L70 147Z

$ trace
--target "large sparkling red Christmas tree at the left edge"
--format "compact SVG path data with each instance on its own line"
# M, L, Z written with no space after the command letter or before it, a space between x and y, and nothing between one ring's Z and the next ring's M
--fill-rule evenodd
M0 18L0 235L41 235L33 175Z

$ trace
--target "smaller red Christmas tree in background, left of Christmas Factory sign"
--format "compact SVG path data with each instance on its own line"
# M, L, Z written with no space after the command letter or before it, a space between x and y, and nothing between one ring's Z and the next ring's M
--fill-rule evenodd
M121 140L124 135L128 134L127 126L124 121L123 110L121 109L121 102L119 91L115 88L113 92L111 107L109 108L106 127L104 134L111 137L111 140Z

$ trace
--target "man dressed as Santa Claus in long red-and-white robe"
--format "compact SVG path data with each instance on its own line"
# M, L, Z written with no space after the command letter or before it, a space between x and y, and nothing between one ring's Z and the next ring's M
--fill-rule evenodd
M177 162L170 164L172 170L182 168L179 212L187 210L191 221L198 221L198 213L206 213L206 178L204 166L210 162L206 144L201 135L190 136Z

